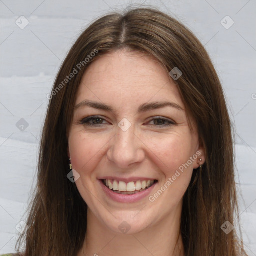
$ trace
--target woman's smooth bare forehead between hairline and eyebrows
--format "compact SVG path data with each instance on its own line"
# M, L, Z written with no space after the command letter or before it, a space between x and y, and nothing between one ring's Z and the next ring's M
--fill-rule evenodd
M117 50L90 64L79 85L76 104L93 99L128 107L171 100L184 107L176 86L157 60L138 51Z

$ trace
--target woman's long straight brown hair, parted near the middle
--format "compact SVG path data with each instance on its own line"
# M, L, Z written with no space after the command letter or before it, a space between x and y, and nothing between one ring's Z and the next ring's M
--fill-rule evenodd
M238 211L231 124L219 78L193 33L174 18L151 8L99 18L79 36L66 56L50 95L37 188L27 219L29 228L20 236L18 249L22 241L24 256L76 256L81 248L87 205L75 183L67 178L67 137L73 107L89 64L121 48L154 57L167 72L178 67L183 73L176 80L177 87L187 116L196 122L206 153L203 167L194 170L183 197L181 234L185 254L246 255L235 229L228 234L221 230L225 221L235 225L234 213ZM75 73L72 78L71 73Z

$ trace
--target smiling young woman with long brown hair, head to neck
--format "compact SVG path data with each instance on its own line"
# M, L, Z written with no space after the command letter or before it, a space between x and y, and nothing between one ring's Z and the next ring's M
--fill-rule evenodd
M48 97L20 255L246 255L222 87L184 25L148 8L99 18Z

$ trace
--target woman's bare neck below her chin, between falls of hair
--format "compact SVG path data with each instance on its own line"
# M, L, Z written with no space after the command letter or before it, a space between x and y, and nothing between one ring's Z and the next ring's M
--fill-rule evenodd
M88 209L86 237L77 256L183 256L180 234L182 205L178 207L164 220L135 234L113 232Z

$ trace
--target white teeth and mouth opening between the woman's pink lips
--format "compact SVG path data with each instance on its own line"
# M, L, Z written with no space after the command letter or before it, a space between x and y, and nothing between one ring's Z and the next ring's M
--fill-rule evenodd
M157 182L156 179L153 180L137 180L125 183L123 181L118 181L114 179L101 179L103 184L118 194L135 194L142 192L152 186Z

